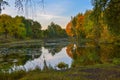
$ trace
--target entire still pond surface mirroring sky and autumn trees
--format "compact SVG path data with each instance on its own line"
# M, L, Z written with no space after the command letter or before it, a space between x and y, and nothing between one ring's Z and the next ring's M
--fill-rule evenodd
M81 46L74 44L52 44L14 46L0 48L0 71L43 69L45 65L58 69L56 65L64 62L70 67L94 64L120 64L120 46L111 44L100 47Z

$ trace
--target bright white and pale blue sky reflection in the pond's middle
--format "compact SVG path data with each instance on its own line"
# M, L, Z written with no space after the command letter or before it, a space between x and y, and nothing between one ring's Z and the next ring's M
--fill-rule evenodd
M44 65L44 60L46 61L46 65L49 66L51 65L53 68L58 64L59 62L65 62L69 64L69 67L71 65L71 58L69 58L65 52L65 48L63 48L58 54L55 54L54 56L49 53L48 49L45 49L42 47L42 55L38 58L35 58L34 60L29 60L27 61L24 65L14 65L12 67L12 70L33 70L36 67L39 67L40 69L43 69ZM10 69L11 70L11 69Z

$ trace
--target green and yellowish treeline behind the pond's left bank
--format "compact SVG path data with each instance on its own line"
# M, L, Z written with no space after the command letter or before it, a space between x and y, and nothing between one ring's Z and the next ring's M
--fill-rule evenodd
M65 38L65 29L51 22L46 30L41 29L39 22L26 19L22 16L11 17L0 15L0 38L1 39L41 39L41 38Z

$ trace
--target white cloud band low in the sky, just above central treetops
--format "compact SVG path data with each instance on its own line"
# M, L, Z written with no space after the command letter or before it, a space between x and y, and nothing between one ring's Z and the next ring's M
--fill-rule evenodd
M67 22L70 20L68 17L47 14L39 14L35 19L42 24L43 29L47 28L51 22L55 22L65 28Z

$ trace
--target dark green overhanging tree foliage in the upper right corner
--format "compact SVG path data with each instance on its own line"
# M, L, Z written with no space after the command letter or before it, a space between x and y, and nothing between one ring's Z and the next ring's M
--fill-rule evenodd
M112 34L118 36L120 34L120 1L119 0L92 0L93 11L94 11L94 21L98 22L101 19L101 14L103 14L102 20L107 24L108 29ZM97 32L99 31L96 30ZM99 35L99 34L97 34Z

